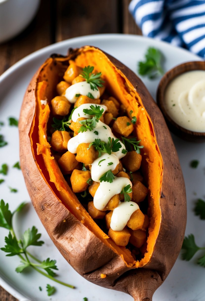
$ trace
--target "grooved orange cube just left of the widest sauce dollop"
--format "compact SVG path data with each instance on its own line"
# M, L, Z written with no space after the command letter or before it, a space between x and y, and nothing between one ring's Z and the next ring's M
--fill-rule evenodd
M55 131L51 137L51 147L54 151L67 151L68 141L71 138L69 132L66 131Z

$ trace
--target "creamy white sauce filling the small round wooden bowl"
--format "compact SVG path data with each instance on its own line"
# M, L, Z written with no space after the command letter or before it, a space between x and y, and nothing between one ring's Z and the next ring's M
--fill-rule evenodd
M205 71L189 71L173 79L165 91L164 104L177 124L205 132Z

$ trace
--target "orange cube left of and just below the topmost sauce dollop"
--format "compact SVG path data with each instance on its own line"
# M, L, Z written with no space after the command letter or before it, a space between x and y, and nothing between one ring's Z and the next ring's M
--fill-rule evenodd
M51 100L52 111L54 115L68 115L71 103L65 96L56 96Z

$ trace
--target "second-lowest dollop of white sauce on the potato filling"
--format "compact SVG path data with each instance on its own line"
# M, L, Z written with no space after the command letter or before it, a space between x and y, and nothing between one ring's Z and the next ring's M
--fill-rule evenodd
M121 193L122 189L129 184L132 187L132 182L125 177L115 177L112 183L101 182L93 198L95 208L103 210L111 197Z

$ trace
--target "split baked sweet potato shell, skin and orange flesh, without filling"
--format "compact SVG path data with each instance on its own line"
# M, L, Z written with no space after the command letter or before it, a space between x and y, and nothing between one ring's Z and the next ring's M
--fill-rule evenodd
M127 114L133 110L137 117L132 134L144 145L142 172L148 187L150 217L147 252L140 261L135 261L126 247L117 246L98 227L51 156L46 139L50 101L62 80L59 74L65 72L70 59L79 67L91 65L102 72L110 94L126 107ZM40 100L45 98L48 104L41 106ZM140 79L115 58L92 46L70 50L67 57L53 55L29 84L19 132L20 161L32 203L65 259L93 283L129 293L136 301L151 300L181 249L186 197L170 133ZM101 278L101 274L106 278Z

